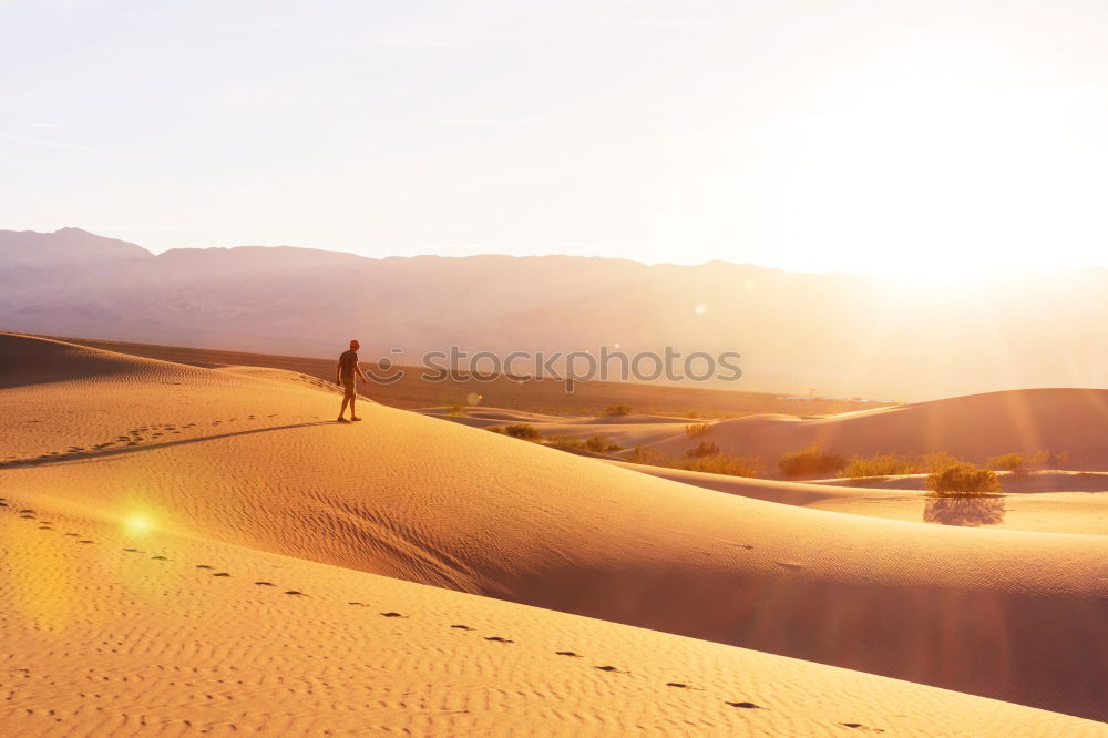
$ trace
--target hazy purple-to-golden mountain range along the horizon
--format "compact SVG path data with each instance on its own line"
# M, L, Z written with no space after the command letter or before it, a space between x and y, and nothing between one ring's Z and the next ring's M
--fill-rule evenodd
M742 378L716 387L916 400L1108 388L1106 320L1099 267L929 293L725 262L375 259L288 246L155 256L78 228L0 230L2 330L284 355L329 357L351 337L363 359L400 363L451 345L500 356L668 345L741 353Z

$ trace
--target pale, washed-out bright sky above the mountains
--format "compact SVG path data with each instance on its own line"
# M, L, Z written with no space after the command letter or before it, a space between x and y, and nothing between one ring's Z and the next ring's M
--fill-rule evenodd
M0 0L0 228L1108 264L1108 2Z

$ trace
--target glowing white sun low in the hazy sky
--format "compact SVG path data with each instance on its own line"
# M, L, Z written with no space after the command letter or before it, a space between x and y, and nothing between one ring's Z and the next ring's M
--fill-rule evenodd
M1099 174L1045 95L917 82L788 124L777 192L793 212L778 221L806 253L794 266L956 286L1050 265L1097 212L1081 193Z

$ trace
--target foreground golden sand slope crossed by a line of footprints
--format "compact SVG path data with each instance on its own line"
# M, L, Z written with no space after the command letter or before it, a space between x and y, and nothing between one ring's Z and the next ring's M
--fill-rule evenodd
M1108 734L7 494L3 736Z

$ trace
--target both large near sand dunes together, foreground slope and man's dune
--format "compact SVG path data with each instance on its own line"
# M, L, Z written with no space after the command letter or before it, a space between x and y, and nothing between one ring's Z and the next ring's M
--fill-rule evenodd
M339 426L291 372L0 356L3 731L1108 732L1102 535Z

